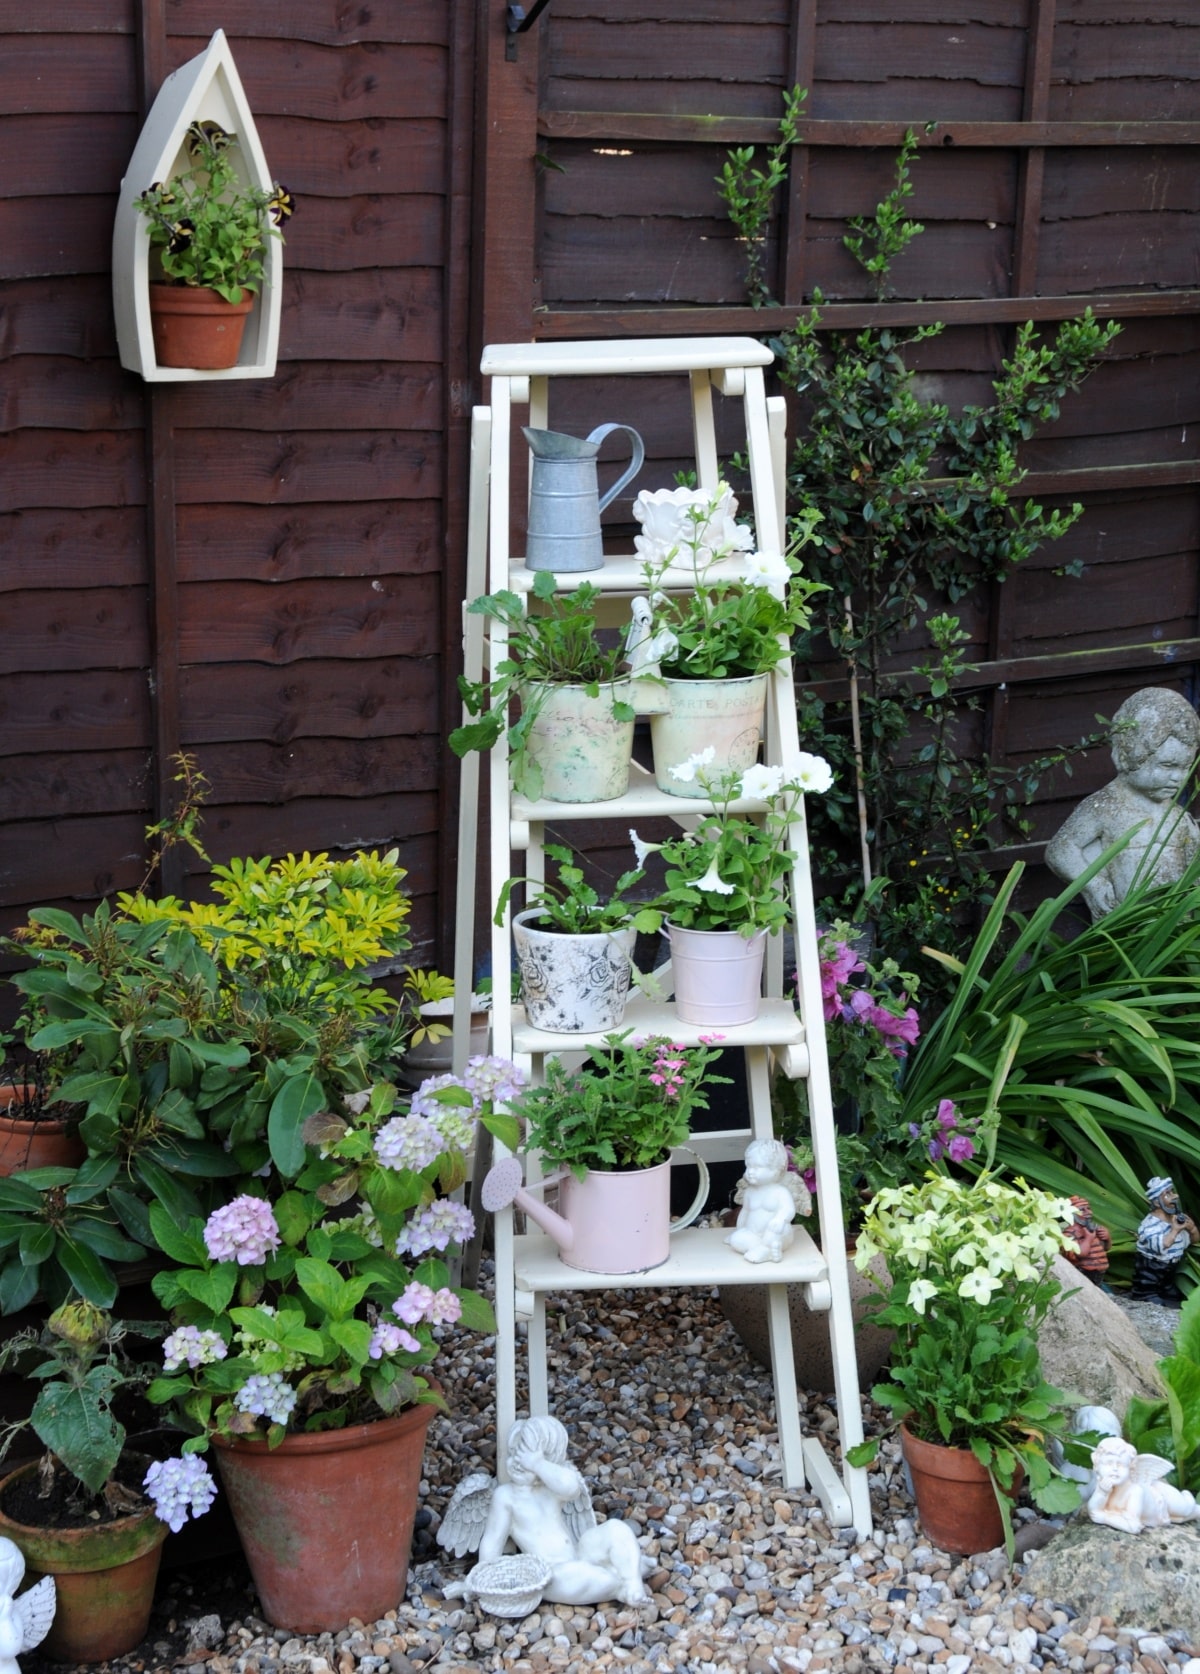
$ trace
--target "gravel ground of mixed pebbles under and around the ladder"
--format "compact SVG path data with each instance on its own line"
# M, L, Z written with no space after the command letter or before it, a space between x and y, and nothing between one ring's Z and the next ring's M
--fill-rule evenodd
M557 1304L557 1309L556 1309ZM546 1605L510 1622L442 1597L470 1560L435 1543L464 1475L494 1468L490 1343L447 1334L438 1373L454 1418L438 1418L400 1610L336 1635L296 1639L256 1617L239 1560L179 1572L159 1587L151 1635L121 1674L415 1674L485 1669L629 1674L822 1669L859 1674L992 1674L1091 1669L1200 1674L1182 1634L1083 1620L1023 1587L1003 1550L952 1558L917 1528L899 1448L872 1475L875 1537L833 1530L807 1493L780 1487L770 1376L748 1363L705 1292L609 1291L551 1299L552 1391L601 1517L638 1530L654 1570L634 1610ZM825 1398L810 1430L833 1433ZM1019 1513L1033 1533L1033 1512ZM50 1671L32 1654L25 1674Z

